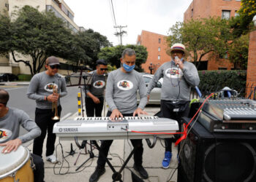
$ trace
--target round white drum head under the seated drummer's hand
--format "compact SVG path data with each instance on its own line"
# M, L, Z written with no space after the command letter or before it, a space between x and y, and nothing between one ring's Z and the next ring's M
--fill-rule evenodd
M1 153L3 149L4 146L0 146L0 179L23 167L29 159L29 150L23 146L7 154Z

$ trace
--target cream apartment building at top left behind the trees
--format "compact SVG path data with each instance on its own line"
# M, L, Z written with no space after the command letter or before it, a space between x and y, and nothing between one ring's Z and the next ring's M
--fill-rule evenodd
M1 0L0 13L11 16L15 10L29 5L38 8L39 12L53 11L56 17L60 17L73 32L84 31L85 28L79 27L74 22L74 12L68 7L63 0ZM31 60L29 56L22 55L26 60ZM61 63L66 63L66 60L60 59ZM13 74L30 74L29 68L24 63L15 63L12 60L12 55L0 57L0 73L13 73Z

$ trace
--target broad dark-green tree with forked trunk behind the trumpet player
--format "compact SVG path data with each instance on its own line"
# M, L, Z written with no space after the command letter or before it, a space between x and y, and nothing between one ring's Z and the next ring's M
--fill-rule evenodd
M46 58L55 55L60 58L69 58L72 54L73 39L71 30L66 28L61 18L53 12L40 13L33 7L25 6L18 12L17 19L12 23L12 58L15 62L23 62L29 66L31 75L39 73L45 64ZM28 60L19 60L21 55L30 55Z

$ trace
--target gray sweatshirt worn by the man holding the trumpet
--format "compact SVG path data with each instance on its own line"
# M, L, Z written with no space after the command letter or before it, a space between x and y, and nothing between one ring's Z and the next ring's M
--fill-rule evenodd
M28 98L36 100L37 108L50 109L52 108L52 103L45 100L45 96L51 95L53 93L53 84L56 85L60 98L67 95L65 79L59 74L49 76L45 73L45 71L33 76L26 95ZM58 102L58 106L59 105L60 100Z

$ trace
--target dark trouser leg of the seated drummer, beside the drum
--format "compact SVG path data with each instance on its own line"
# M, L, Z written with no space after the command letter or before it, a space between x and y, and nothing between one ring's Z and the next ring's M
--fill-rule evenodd
M34 182L43 182L45 178L44 161L42 160L42 157L39 157L38 155L35 154L31 154L31 157L36 167L33 171Z

